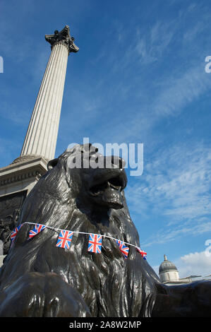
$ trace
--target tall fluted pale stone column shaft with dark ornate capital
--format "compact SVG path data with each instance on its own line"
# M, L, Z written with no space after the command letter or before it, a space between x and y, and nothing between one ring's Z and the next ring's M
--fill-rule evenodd
M68 25L45 39L52 45L47 68L44 72L40 91L37 95L28 131L25 136L20 157L42 156L46 160L54 158L59 131L61 103L68 54L78 52Z

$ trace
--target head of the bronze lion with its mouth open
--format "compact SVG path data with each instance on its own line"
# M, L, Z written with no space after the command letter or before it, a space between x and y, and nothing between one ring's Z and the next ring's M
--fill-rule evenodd
M121 158L104 157L91 144L77 145L51 160L49 169L56 167L61 159L65 162L67 181L77 180L71 194L78 202L82 200L85 205L89 202L95 208L123 208L121 191L126 187L127 178Z

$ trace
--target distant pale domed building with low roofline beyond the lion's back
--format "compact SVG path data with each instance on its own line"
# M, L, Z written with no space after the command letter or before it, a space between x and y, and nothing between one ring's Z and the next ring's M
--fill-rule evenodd
M167 255L164 255L164 261L159 266L159 278L162 283L168 285L191 283L191 278L179 278L179 272L171 261L168 261Z

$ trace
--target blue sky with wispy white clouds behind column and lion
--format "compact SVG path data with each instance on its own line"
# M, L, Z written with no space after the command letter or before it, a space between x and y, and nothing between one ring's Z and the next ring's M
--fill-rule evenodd
M49 54L70 25L56 155L68 144L143 143L126 198L140 247L181 277L211 273L211 4L180 0L1 1L0 167L20 155Z

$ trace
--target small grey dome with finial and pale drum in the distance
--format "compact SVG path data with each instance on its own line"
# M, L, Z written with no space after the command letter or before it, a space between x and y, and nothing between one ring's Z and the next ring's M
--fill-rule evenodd
M168 261L167 255L164 255L164 261L159 266L159 278L162 283L179 280L179 272L174 263Z

